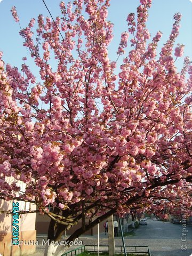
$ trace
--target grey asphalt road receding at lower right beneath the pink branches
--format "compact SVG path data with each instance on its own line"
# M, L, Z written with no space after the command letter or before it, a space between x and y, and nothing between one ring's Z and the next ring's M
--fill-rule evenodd
M125 241L126 245L149 246L151 256L192 255L192 227L171 222L148 220L147 226L135 229L134 235L126 237Z

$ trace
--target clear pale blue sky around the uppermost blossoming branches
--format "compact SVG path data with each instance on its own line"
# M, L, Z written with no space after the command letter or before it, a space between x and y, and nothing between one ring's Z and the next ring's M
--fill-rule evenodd
M68 2L68 1L65 1ZM71 1L72 2L72 1ZM53 17L60 16L59 0L45 0ZM116 59L116 51L121 33L127 29L126 18L130 12L136 13L139 0L111 0L108 20L114 23L114 39L109 47L110 59ZM20 66L22 57L28 56L27 50L22 46L23 39L19 35L19 25L11 15L11 7L16 6L21 27L26 27L30 18L37 18L38 14L47 12L42 0L0 0L0 51L4 53L4 61L12 66ZM147 26L153 37L158 30L163 32L159 50L169 37L174 13L182 14L180 35L177 43L185 45L184 55L192 60L192 0L153 0L149 10ZM129 50L129 49L127 49ZM30 58L28 58L30 59ZM180 68L183 58L177 61ZM28 62L30 65L30 61Z

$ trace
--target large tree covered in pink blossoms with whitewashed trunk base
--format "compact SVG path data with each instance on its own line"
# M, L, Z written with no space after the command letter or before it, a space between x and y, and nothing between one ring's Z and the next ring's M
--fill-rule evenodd
M127 17L115 61L108 56L109 0L61 2L61 18L38 16L36 39L35 19L21 29L39 81L26 58L19 71L4 66L1 53L0 198L35 203L50 217L48 238L55 243L79 221L68 242L114 213L149 209L159 215L177 206L191 214L192 67L188 58L180 73L175 67L183 53L183 45L174 46L181 15L174 15L157 56L162 33L148 43L151 0L140 2L137 19ZM12 14L19 22L15 7ZM44 255L53 255L53 247ZM60 246L54 255L63 251Z

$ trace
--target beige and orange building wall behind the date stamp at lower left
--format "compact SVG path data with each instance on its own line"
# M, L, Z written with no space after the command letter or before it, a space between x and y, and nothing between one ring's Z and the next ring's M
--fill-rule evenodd
M23 187L25 187L23 185ZM25 188L24 188L25 189ZM15 203L17 201L14 201ZM13 201L6 202L0 200L1 211L12 211ZM28 202L19 202L19 210L28 211L36 210L36 205ZM19 240L26 241L26 245L12 245L12 215L0 213L0 253L3 256L20 256L29 255L35 252L36 230L35 230L36 213L19 215ZM34 241L34 242L33 242Z

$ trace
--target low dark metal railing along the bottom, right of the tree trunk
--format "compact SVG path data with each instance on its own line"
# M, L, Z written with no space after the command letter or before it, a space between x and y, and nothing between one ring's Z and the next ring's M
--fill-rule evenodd
M103 248L104 247L104 248ZM99 247L99 251L100 252L108 252L109 251L109 246L108 245L101 245ZM127 245L126 247L126 253L147 253L148 256L151 256L150 251L149 251L149 247L148 246L136 246L136 245ZM87 248L87 249L86 249ZM105 250L106 248L106 250ZM115 246L115 252L116 253L123 253L123 245L116 245ZM69 252L65 252L62 254L62 256L74 256L74 255L78 255L84 251L89 251L89 252L97 252L98 251L98 246L97 245L83 245L81 247L77 247L76 249L73 249ZM138 254L138 256L139 256Z

